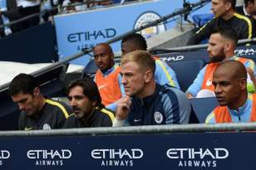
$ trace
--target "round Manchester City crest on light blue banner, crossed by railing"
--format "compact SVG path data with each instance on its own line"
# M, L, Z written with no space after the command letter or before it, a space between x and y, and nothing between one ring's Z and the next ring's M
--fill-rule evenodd
M137 29L141 26L145 26L146 24L160 18L161 16L156 12L153 12L153 11L144 12L136 19L136 22L134 24L134 29ZM157 26L146 28L140 31L140 34L143 35L145 38L149 38L154 34L159 34L165 31L166 31L165 24L162 23L162 24L158 24Z

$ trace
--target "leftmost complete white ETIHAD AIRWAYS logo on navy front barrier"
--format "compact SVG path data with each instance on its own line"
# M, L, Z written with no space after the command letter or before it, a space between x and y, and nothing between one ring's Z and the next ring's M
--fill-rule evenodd
M71 158L71 156L72 152L68 149L27 151L27 157L35 159L36 166L62 166L64 160Z

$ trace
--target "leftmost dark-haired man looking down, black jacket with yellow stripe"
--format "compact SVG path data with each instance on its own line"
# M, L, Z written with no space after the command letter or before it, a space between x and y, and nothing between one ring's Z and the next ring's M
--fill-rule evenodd
M13 102L21 111L19 130L49 130L62 128L71 109L62 102L46 99L32 75L21 73L9 86Z

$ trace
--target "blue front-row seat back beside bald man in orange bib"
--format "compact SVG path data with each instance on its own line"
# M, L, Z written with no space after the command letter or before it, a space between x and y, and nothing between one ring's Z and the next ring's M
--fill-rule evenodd
M218 101L215 97L193 98L189 101L193 107L194 113L199 120L199 123L204 123L207 116L218 105Z

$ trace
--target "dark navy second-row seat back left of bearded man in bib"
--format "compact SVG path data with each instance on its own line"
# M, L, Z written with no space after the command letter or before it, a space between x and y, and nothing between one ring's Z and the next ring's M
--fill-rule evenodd
M169 62L169 66L175 71L182 91L193 83L198 72L205 66L204 60L190 60L183 62Z

